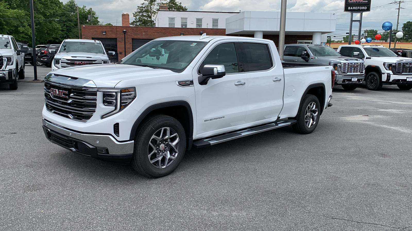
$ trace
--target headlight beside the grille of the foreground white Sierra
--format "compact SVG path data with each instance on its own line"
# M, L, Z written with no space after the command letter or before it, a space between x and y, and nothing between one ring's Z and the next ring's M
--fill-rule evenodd
M103 92L103 105L113 107L113 111L103 115L102 119L122 111L136 98L136 88L99 89L98 91Z

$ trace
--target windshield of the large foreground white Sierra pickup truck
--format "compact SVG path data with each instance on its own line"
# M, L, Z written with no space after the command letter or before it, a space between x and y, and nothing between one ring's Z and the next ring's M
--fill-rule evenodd
M158 40L148 42L122 61L121 64L148 65L175 72L183 70L207 42Z

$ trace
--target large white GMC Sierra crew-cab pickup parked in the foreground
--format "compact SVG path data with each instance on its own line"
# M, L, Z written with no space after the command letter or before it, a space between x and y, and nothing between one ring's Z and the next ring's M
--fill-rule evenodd
M192 146L288 125L313 132L334 78L332 66L281 62L270 40L166 37L117 64L49 73L42 123L68 150L162 177Z

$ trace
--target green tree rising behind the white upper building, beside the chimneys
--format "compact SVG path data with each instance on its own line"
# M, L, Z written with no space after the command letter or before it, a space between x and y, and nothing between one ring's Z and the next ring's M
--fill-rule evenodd
M159 2L158 0L144 0L133 13L134 20L130 23L134 26L155 26L155 18L159 11L159 5L168 5L169 10L187 11L187 8L182 6L181 2L169 0Z

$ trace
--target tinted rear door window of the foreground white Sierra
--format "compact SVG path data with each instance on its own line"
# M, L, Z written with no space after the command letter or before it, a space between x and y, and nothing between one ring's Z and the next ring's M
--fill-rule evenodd
M267 44L246 42L240 44L245 72L263 71L273 66Z

